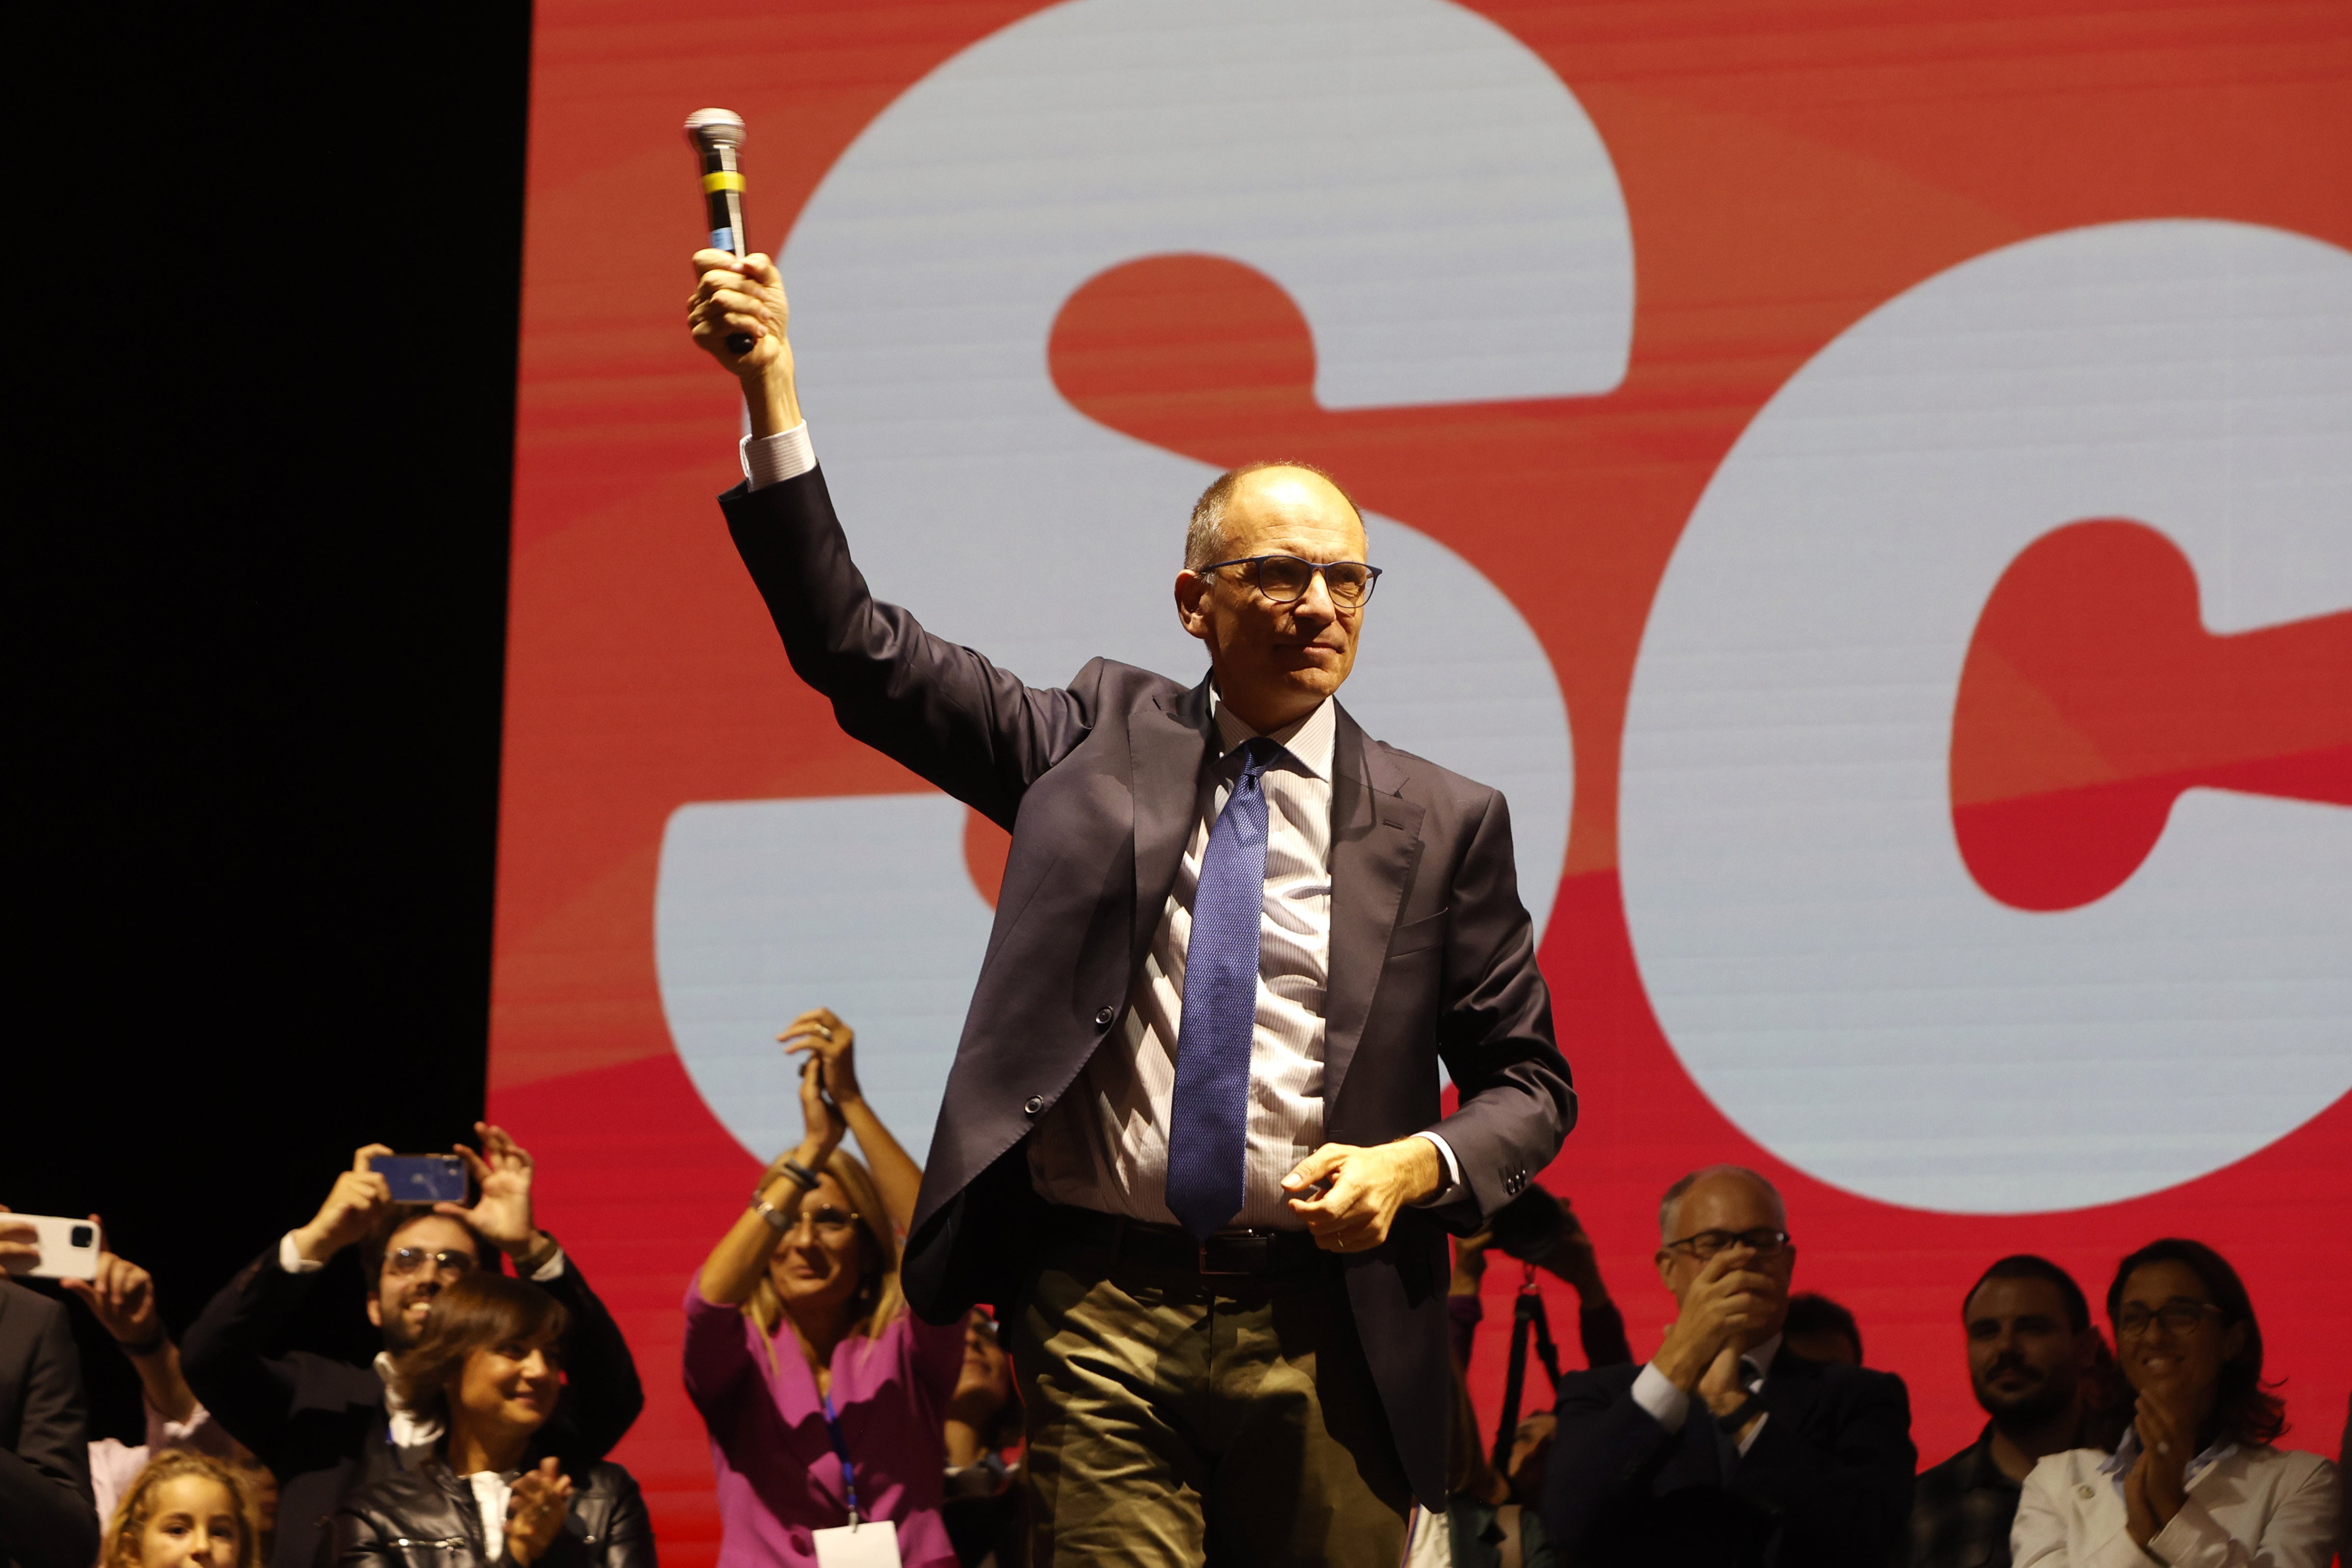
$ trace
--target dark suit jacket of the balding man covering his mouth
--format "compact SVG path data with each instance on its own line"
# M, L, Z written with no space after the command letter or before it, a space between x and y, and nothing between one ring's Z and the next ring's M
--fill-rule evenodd
M1637 1366L1559 1380L1543 1523L1590 1568L1889 1568L1910 1547L1910 1394L1893 1373L1806 1361L1764 1375L1771 1420L1740 1455L1703 1403L1668 1432Z

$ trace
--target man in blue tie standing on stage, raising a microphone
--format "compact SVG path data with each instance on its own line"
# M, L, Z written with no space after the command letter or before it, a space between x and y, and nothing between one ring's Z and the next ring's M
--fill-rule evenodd
M722 505L793 668L1014 835L903 1281L1011 1331L1035 1561L1397 1561L1411 1500L1444 1507L1444 1229L1576 1100L1501 795L1331 701L1362 517L1317 470L1235 470L1176 574L1209 679L1023 686L868 595L774 266L694 261L753 423Z

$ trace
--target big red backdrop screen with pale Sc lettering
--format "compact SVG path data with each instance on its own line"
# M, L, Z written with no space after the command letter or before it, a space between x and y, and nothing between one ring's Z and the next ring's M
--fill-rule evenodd
M2343 1425L2347 89L2336 5L543 0L492 1105L637 1349L666 1559L771 1037L851 1018L922 1152L1004 856L727 543L687 110L750 125L816 449L934 630L1192 679L1192 496L1343 477L1345 701L1510 792L1545 1182L1635 1347L1658 1190L1755 1164L1938 1460L1966 1281L2159 1234L2246 1272L2288 1441Z

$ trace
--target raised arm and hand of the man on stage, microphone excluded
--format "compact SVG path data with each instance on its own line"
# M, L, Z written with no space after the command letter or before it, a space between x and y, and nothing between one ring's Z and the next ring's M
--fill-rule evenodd
M739 487L720 505L793 670L833 701L842 731L1011 827L1028 785L1084 738L1087 682L1080 691L1030 689L896 604L875 602L804 435L793 437L802 444L790 463L762 468L769 437L790 437L802 423L783 277L767 256L727 252L696 252L694 268L694 341L743 388L755 473L774 480ZM748 353L727 350L736 331L753 336Z

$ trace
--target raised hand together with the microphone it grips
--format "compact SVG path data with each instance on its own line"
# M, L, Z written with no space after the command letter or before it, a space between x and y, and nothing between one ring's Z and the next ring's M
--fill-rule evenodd
M786 339L790 310L783 275L767 256L743 252L743 120L724 108L694 110L687 141L701 155L710 221L710 244L694 252L687 327L703 353L743 383L753 435L790 430L800 423L800 400Z

